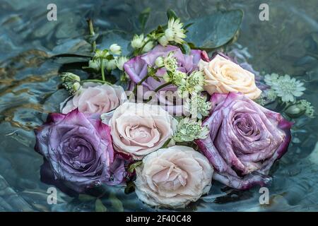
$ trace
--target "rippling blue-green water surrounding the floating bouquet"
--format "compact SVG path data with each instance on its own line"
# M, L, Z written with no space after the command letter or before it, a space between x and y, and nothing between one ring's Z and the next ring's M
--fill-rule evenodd
M269 4L269 21L259 20L259 4ZM49 59L64 52L86 53L90 45L86 18L94 19L107 47L110 30L131 37L139 13L150 6L148 26L165 23L165 11L173 8L184 21L211 14L216 8L241 8L245 12L237 43L248 52L254 69L264 73L288 73L306 81L305 98L318 109L318 5L310 1L54 1L57 21L47 20L51 1L0 0L0 211L94 211L92 201L79 201L58 191L56 205L47 203L49 185L40 182L42 156L33 150L33 128L47 112L57 112L66 97L59 88L59 71L85 59ZM124 31L124 32L122 32ZM209 32L209 31L207 31ZM117 42L126 43L124 40ZM237 46L239 47L239 46ZM74 63L76 62L76 63ZM81 76L87 76L81 71ZM276 162L269 186L270 205L259 205L258 188L221 191L214 183L211 196L186 210L267 211L318 210L318 119L302 119L295 125L288 153ZM143 205L124 187L107 187L102 203L111 211L155 210ZM225 195L226 194L226 195ZM218 198L216 196L219 196Z

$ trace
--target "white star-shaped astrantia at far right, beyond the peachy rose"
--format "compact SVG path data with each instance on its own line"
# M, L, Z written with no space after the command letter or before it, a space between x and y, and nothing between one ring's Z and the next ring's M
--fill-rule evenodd
M303 86L304 83L290 78L290 76L280 76L277 81L272 81L271 88L275 90L278 97L281 97L283 102L294 102L295 97L300 97L306 88Z

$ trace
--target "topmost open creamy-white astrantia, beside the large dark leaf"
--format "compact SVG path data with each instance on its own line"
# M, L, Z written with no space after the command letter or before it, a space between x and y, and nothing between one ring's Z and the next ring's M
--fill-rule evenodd
M167 24L167 29L165 30L165 37L167 40L182 44L184 42L183 39L187 37L187 35L185 35L185 30L182 27L183 23L180 23L179 18L170 18Z

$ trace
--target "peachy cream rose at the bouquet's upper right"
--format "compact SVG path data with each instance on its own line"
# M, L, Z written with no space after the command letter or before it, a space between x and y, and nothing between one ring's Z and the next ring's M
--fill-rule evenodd
M206 85L204 89L213 93L244 93L254 100L261 95L255 84L254 74L225 57L216 55L210 62L199 61L199 69L204 71Z

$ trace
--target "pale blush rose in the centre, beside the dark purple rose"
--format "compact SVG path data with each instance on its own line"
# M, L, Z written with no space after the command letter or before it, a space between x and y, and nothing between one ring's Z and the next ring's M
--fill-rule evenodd
M114 148L139 160L172 137L174 120L158 105L125 102L109 123Z

